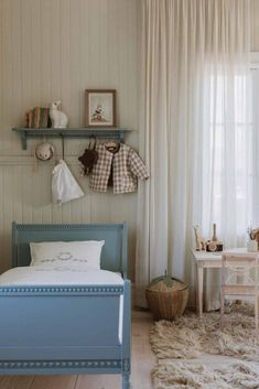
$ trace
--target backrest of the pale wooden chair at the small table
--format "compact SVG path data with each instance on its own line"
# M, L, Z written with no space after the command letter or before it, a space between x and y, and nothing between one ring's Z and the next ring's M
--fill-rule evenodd
M223 255L222 285L258 287L258 253L226 252Z

